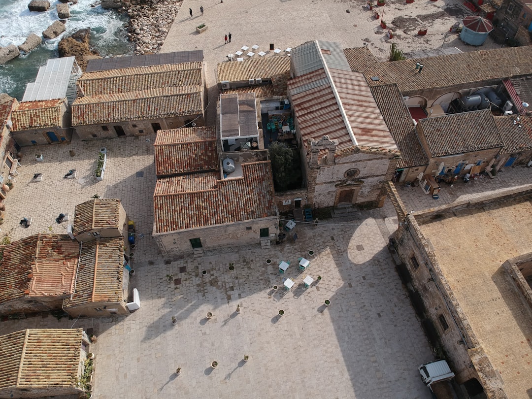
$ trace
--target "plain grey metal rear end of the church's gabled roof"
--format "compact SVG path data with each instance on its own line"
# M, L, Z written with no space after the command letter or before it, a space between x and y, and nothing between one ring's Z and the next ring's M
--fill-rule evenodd
M351 71L342 46L330 41L314 40L297 46L291 58L296 77L324 68L324 62L328 68Z

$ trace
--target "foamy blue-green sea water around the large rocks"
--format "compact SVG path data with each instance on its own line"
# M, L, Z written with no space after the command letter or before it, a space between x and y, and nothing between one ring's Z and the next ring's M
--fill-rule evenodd
M42 36L43 30L59 20L55 7L59 0L51 0L49 10L45 12L30 12L29 2L0 0L0 47L21 45L31 33ZM63 34L55 39L43 39L43 43L29 54L0 65L0 93L7 93L20 101L26 84L35 81L39 66L45 65L50 58L59 57L59 41L80 29L91 29L90 44L101 56L132 54L133 47L127 40L124 27L128 20L126 14L104 10L96 0L78 0L78 4L69 6L71 17L66 19Z

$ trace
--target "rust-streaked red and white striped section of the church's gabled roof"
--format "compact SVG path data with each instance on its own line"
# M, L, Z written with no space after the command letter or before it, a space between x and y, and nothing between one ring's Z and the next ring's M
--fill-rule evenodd
M397 151L362 74L337 69L329 71L354 139L325 70L318 69L288 81L288 92L305 147L310 138L319 140L328 135L331 140L338 140L337 150L358 145Z

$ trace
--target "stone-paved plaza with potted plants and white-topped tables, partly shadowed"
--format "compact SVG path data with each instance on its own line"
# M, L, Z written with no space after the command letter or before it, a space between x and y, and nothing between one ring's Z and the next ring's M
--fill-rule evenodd
M433 355L386 249L397 225L389 202L351 218L323 220L317 227L298 224L295 243L269 250L257 245L167 260L150 235L152 144L153 136L87 143L74 138L68 145L23 150L20 175L7 195L2 235L18 239L65 232L66 223L54 221L60 212L73 215L77 203L96 193L119 197L137 232L144 233L135 251L136 276L130 280L139 289L142 307L117 318L57 321L45 314L8 320L0 323L1 334L28 327L94 328L93 397L101 399L430 397L417 366ZM96 182L93 170L102 146L109 159L104 180ZM43 154L43 162L35 161L35 152ZM69 169L77 169L76 179L63 178ZM493 180L444 186L438 201L419 187L398 190L409 209L418 210L526 184L531 172L516 167ZM34 173L44 173L43 181L31 182ZM27 229L18 223L25 215L34 218ZM315 255L306 255L309 250ZM297 267L300 256L311 260L303 273ZM267 258L273 261L269 266ZM280 260L291 261L284 276L278 273ZM202 270L207 276L201 276ZM171 284L167 274L175 278ZM304 289L306 275L322 280ZM295 280L294 288L273 292L285 276ZM326 299L329 307L323 305ZM280 309L285 311L281 318ZM205 318L207 312L212 319ZM247 363L244 354L250 356ZM219 362L216 369L210 368L213 360ZM182 368L178 377L173 375L177 367Z

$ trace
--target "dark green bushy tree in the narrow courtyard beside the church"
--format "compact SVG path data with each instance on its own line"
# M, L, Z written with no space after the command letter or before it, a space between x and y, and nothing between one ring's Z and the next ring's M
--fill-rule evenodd
M278 191L290 188L300 177L298 165L294 165L294 153L284 143L274 142L268 147L273 182Z

